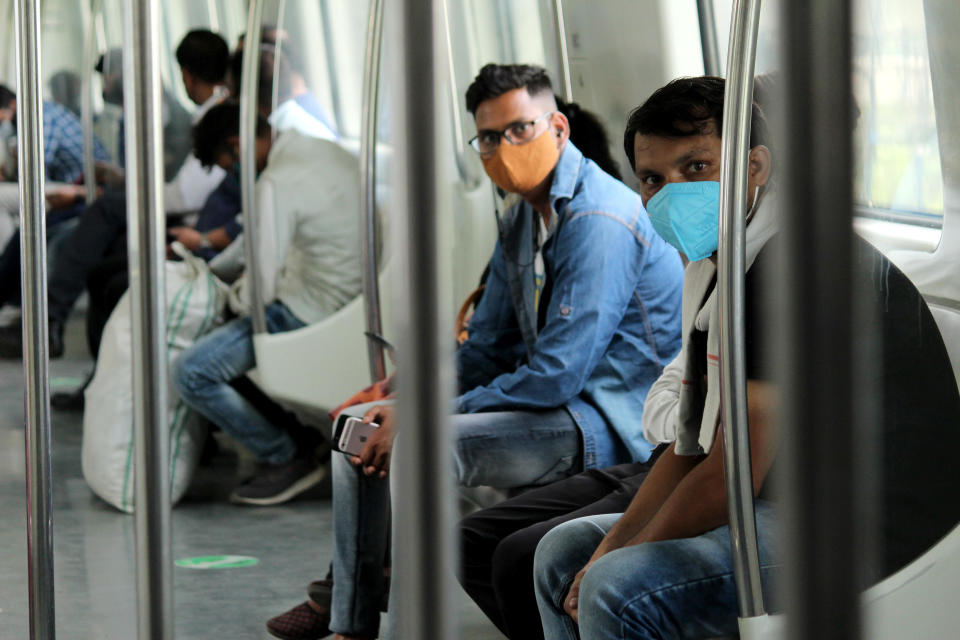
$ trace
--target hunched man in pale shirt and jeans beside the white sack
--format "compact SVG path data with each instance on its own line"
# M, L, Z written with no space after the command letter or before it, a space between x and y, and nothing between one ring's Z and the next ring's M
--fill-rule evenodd
M221 150L239 144L240 108L214 107L224 125ZM262 119L255 141L260 278L271 333L319 322L360 294L360 185L356 158L336 143L281 133L271 142ZM218 154L219 155L219 154ZM241 297L246 297L241 287ZM248 303L247 303L248 305ZM281 425L267 420L230 381L255 366L250 318L237 318L200 338L174 362L181 397L246 445L259 472L230 495L238 504L285 502L323 478L313 450L299 450Z

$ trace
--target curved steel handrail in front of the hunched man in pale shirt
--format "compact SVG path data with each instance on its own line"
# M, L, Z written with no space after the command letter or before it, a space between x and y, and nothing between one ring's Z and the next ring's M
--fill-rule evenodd
M251 0L247 14L247 35L243 44L240 72L240 201L243 207L243 251L246 257L247 287L250 293L250 318L254 333L267 331L267 316L260 294L260 262L257 235L256 195L257 161L254 141L257 135L257 92L260 71L260 41L263 28L263 0ZM276 80L276 78L274 78Z

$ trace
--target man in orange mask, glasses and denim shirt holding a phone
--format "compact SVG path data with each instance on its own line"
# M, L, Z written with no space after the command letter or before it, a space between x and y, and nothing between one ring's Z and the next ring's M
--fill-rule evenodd
M639 197L569 142L546 71L487 65L467 91L472 141L510 195L486 291L457 352L454 468L467 486L543 485L645 460L637 416L679 347L682 266ZM340 638L379 627L392 407L361 456L333 457ZM438 470L445 471L445 470Z

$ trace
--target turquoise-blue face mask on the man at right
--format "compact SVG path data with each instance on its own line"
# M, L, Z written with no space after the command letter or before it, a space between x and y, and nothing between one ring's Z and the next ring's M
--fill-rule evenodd
M660 237L690 262L717 250L719 182L668 182L647 202L647 213Z

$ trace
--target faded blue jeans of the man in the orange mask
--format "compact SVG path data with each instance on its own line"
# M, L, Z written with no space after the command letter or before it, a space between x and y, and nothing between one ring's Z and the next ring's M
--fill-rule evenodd
M583 466L580 432L565 409L459 414L452 427L454 470L463 485L508 489L547 484ZM373 638L384 593L390 481L364 475L342 454L333 455L332 467L330 630Z

